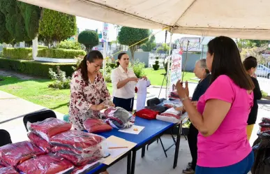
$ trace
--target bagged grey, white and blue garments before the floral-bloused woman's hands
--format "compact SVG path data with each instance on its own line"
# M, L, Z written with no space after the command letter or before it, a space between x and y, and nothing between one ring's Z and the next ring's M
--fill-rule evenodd
M109 108L105 110L104 114L107 117L105 122L114 128L126 129L133 125L130 122L133 119L133 115L121 107Z

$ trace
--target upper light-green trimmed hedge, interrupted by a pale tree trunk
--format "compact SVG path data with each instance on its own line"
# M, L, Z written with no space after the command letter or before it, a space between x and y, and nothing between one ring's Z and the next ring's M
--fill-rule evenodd
M87 53L84 50L66 50L39 48L38 57L74 59L84 56ZM32 48L3 48L3 57L10 59L32 60Z

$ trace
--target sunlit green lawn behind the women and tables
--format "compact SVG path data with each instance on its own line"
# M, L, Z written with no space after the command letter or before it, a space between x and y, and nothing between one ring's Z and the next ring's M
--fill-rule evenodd
M161 85L165 70L153 71L152 68L146 68L146 73L152 85ZM186 73L184 80L194 78L193 73ZM13 77L1 77L0 90L18 96L27 101L31 101L40 106L57 110L59 113L68 113L68 102L70 100L70 89L51 89L47 86L51 80L35 79L35 80L20 80ZM191 80L192 81L192 80ZM112 84L107 83L107 87L112 94Z

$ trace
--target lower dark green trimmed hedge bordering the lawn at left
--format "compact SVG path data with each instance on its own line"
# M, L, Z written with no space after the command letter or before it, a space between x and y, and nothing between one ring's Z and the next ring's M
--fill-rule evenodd
M71 77L73 74L72 66L76 67L76 64L45 63L40 61L0 58L0 68L45 78L49 77L49 68L56 71L57 66L60 66L61 71L65 71L66 75Z

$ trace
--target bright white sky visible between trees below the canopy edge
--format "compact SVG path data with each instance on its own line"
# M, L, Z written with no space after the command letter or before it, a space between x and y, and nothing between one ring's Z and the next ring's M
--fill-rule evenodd
M80 31L84 31L85 29L92 29L96 30L98 29L98 33L103 30L103 22L99 22L96 20L89 20L84 17L77 17L77 28L79 28ZM153 29L153 33L157 33L158 29ZM108 31L109 41L116 41L117 40L117 29L114 28L113 24L109 24L109 31ZM176 40L177 38L181 37L191 37L193 35L187 35L187 34L173 34L172 35L172 42ZM170 34L167 34L167 43L170 42ZM160 31L158 34L156 34L156 43L165 43L165 31Z

